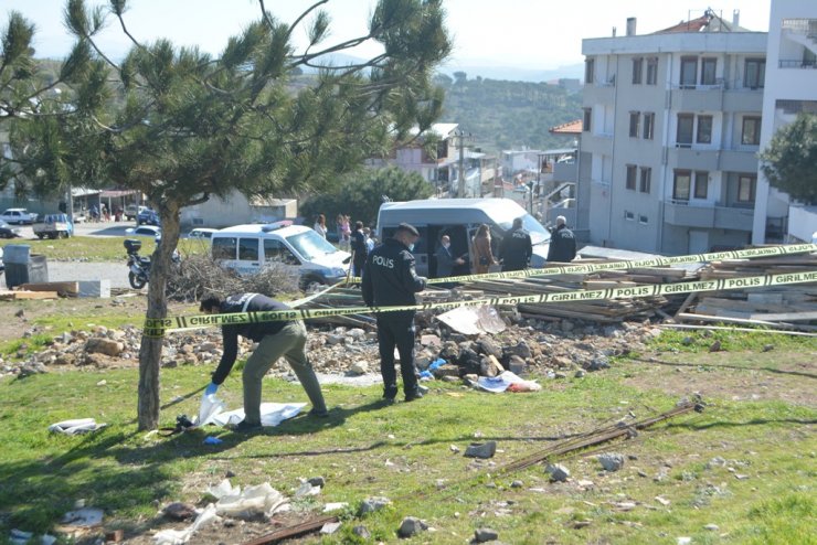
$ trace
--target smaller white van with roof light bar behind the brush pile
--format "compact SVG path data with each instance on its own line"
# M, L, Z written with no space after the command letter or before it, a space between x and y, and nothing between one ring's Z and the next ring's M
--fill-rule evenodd
M349 253L341 252L315 231L291 222L235 225L210 237L211 255L241 275L258 272L266 264L283 263L300 275L299 285L332 285L346 278Z

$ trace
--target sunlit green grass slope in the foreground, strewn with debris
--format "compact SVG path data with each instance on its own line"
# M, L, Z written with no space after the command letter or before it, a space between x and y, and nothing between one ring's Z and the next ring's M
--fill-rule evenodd
M198 396L184 396L206 384L210 371L162 370L163 425L178 414L197 413ZM550 483L541 466L507 474L500 468L630 410L638 418L667 410L678 396L628 386L615 365L582 380L543 378L543 391L534 394L489 395L432 383L424 399L391 407L376 405L378 387L328 385L332 413L326 420L298 417L250 437L206 429L165 439L136 430L137 378L135 370L117 370L0 381L0 534L10 527L45 531L77 499L103 506L106 527L132 531L140 517L155 514L153 502L198 503L206 483L232 471L234 483L266 481L284 492L300 477L323 475L318 502L351 503L344 514L349 524L327 543L356 543L351 527L361 523L375 541L403 543L395 531L407 515L435 528L408 543L459 544L479 526L497 530L505 543L531 544L675 543L678 536L693 543L814 543L817 535L813 406L709 399L701 415L675 418L601 449L636 458L622 471L603 473L593 457L574 455L558 460L574 481ZM229 407L238 406L240 373L220 393ZM265 381L264 397L306 400L299 385L278 380ZM82 437L45 430L76 417L109 426ZM205 435L224 442L204 446ZM498 442L490 462L463 457L469 442L485 440ZM726 466L708 464L714 457ZM654 480L661 468L667 477ZM514 480L523 487L511 488ZM580 488L577 480L594 484ZM386 495L393 504L358 520L354 509L371 495ZM671 504L661 505L658 495ZM636 507L619 511L616 503L623 501ZM318 509L318 502L298 507ZM585 520L588 526L574 527ZM719 530L704 530L708 524Z

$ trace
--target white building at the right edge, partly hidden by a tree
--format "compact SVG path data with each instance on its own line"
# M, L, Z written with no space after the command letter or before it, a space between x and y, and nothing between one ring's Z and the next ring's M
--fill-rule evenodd
M766 58L761 149L797 114L817 114L817 2L772 1ZM817 206L791 203L760 172L752 242L810 242L815 232Z

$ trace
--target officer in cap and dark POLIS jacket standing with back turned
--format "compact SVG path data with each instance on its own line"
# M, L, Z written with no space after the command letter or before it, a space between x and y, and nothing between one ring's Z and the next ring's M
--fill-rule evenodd
M401 223L392 238L374 248L365 261L362 279L363 301L369 307L414 306L414 293L425 289L426 279L414 270L412 249L420 233ZM405 400L423 397L414 367L414 310L379 312L378 344L380 373L383 376L383 399L394 402L397 376L394 372L394 346L400 354Z

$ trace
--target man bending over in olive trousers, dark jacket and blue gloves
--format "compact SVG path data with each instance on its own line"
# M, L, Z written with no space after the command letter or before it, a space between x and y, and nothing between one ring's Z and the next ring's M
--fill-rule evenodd
M220 299L208 297L202 299L199 310L208 314L227 314L236 312L257 312L267 310L286 310L289 307L261 293L236 293ZM236 317L240 318L240 317ZM241 317L244 318L244 317ZM221 327L224 339L224 354L213 373L212 382L204 389L204 394L215 394L219 386L230 374L238 354L238 335L252 339L258 343L253 354L244 365L242 380L244 383L244 420L235 427L236 431L252 431L261 428L261 393L262 380L269 367L284 356L293 367L295 375L309 396L312 408L309 416L327 416L328 412L320 392L318 377L315 376L307 359L306 328L301 320L248 322L242 320L236 323Z

